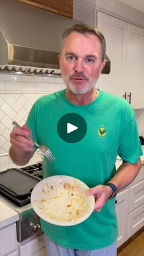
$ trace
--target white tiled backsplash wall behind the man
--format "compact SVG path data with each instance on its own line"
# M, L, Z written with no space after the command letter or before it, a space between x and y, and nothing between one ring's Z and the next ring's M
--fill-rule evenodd
M98 85L96 86L98 87ZM65 88L62 78L33 75L0 74L0 171L17 167L9 158L9 134L12 121L23 125L32 104L41 95ZM135 111L139 133L144 136L144 112ZM29 164L41 161L42 156L36 152Z

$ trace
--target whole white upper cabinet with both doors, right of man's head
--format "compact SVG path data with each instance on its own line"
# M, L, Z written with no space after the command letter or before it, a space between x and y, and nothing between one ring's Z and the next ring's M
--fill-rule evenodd
M99 88L144 108L144 29L99 11L97 25L111 60L110 74L100 76Z

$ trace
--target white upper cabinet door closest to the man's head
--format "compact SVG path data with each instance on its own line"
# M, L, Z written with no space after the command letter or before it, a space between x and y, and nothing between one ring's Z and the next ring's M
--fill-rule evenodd
M101 90L123 97L126 84L128 25L125 21L98 12L98 29L106 38L106 53L111 60L110 74L99 77L98 87Z

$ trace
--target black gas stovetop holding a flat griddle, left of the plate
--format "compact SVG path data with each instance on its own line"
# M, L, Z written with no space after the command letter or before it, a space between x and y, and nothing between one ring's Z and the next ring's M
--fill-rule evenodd
M2 183L0 182L0 194L2 194L2 196L5 197L5 199L8 199L10 202L14 203L16 206L23 207L24 205L31 203L31 192L32 192L32 189L34 188L34 184L37 184L43 179L43 162L38 162L37 164L32 164L31 166L22 167L20 169L8 169L5 171L5 174L4 172L3 174L0 174L1 178L2 178L2 175L6 176L7 174L12 174L12 171L17 171L17 175L21 174L22 181L23 181L23 174L24 174L24 177L27 177L27 178L29 177L30 188L31 188L29 190L29 193L22 196L20 196L19 194L15 194L15 192L13 192L12 189L10 188L11 181L9 181L10 183L9 186L4 186L4 184L2 185ZM9 177L9 175L7 176ZM5 179L7 182L7 177ZM16 186L16 182L15 181L13 182L14 182L14 186ZM32 187L31 187L31 182L32 182ZM27 186L26 182L21 184L21 186L26 187Z

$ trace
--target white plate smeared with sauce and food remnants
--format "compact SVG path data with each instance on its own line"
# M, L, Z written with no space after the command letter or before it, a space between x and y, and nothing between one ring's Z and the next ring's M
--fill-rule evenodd
M93 212L94 196L85 196L88 186L65 175L41 180L33 189L31 203L41 219L55 225L76 225Z

